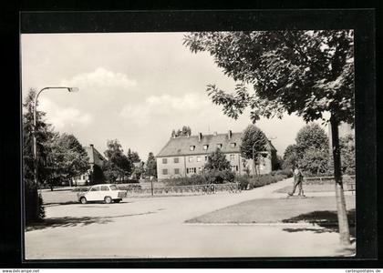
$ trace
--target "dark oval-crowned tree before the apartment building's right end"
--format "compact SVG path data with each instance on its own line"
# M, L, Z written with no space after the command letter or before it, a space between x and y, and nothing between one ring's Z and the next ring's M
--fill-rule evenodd
M249 125L243 131L240 152L243 157L254 159L254 166L256 166L258 165L258 158L261 156L261 152L264 152L266 149L266 144L267 137L264 135L264 132L257 126Z

